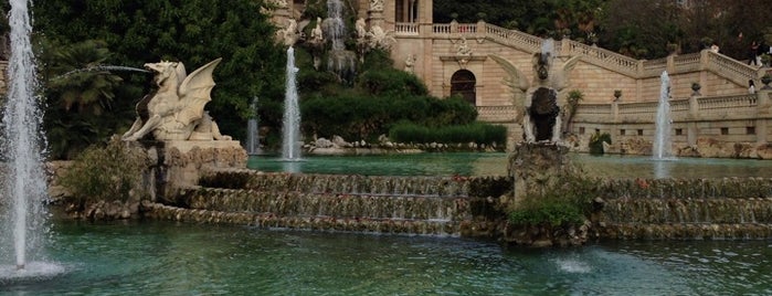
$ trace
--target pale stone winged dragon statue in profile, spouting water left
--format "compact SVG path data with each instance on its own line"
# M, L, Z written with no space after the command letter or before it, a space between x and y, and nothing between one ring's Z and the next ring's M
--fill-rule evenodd
M137 104L137 119L123 135L124 140L139 140L151 134L156 140L231 140L203 110L212 101L212 72L222 61L216 59L187 75L179 62L145 64L155 72L158 88Z

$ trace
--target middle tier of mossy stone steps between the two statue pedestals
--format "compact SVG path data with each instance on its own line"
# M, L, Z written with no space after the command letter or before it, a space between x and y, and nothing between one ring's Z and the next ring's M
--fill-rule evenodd
M187 189L176 205L192 210L273 214L459 221L484 214L488 201L467 197L368 195L268 192L219 188Z

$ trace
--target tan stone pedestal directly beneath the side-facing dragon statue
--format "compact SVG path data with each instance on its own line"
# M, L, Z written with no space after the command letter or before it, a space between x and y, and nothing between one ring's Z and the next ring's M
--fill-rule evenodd
M246 168L246 150L236 140L141 141L151 165L147 172L151 201L173 203L179 189L197 186L213 169Z

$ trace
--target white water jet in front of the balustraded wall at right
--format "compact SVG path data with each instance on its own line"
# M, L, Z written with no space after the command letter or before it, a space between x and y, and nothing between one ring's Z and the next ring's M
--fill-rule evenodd
M659 87L659 106L657 107L657 117L654 134L654 147L652 156L654 159L662 160L671 156L670 152L670 77L667 71L664 71L659 76L662 85Z

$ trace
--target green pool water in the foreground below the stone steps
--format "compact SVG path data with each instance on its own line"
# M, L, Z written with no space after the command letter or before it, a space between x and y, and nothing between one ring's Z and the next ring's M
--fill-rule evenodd
M772 243L494 242L57 221L45 281L0 295L770 295Z

